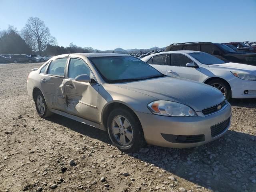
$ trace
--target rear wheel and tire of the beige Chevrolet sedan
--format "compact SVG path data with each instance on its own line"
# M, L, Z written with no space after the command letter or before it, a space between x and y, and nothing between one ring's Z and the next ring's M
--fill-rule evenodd
M42 118L51 116L52 112L48 109L42 92L38 91L36 93L35 98L36 98L36 100L35 100L36 111L37 111L38 115Z

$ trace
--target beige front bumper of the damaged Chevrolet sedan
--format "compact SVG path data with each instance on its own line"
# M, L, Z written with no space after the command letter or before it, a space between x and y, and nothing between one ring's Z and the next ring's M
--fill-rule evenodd
M154 114L136 112L143 128L144 137L148 144L171 148L190 148L206 144L223 136L231 122L231 106L208 116L196 112L194 117L168 117ZM229 119L230 118L230 119ZM212 137L211 127L229 119L227 126L220 134ZM167 135L167 137L166 137ZM198 136L204 135L201 142L182 143L170 142L168 135ZM164 138L165 137L165 138ZM172 137L169 137L172 138ZM169 140L169 141L168 141Z

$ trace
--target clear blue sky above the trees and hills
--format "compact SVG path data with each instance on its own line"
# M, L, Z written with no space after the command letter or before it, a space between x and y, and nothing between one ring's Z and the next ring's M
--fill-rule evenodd
M256 0L0 0L0 30L44 20L61 46L100 50L256 41Z

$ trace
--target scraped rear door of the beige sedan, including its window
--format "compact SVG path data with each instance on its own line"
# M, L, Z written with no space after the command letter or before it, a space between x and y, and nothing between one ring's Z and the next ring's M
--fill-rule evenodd
M41 74L41 88L46 104L50 108L64 110L64 71L68 58L60 58L50 62L45 72Z

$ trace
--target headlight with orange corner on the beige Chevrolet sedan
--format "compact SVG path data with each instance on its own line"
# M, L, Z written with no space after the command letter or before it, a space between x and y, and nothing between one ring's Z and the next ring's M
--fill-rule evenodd
M173 117L197 116L196 112L181 103L172 101L158 100L148 104L148 108L153 114Z

